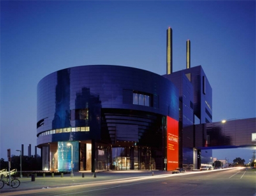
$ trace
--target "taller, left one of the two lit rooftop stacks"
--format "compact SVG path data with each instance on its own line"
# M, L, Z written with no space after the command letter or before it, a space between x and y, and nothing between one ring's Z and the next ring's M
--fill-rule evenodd
M166 73L172 73L172 28L166 31Z

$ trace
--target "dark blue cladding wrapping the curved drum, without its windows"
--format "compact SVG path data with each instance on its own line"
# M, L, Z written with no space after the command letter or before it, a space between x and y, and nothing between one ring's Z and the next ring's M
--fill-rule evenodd
M133 92L151 95L151 105L134 105ZM73 140L82 140L82 134L86 134L88 140L88 134L82 132L41 136L49 130L66 127L88 126L90 139L101 140L101 111L104 108L168 115L178 120L177 106L178 89L161 75L149 71L123 66L62 69L47 75L38 84L38 122L43 120L44 123L37 130L38 145L60 140L61 135L67 139L66 134L72 135ZM70 111L84 108L89 109L88 121L70 121Z

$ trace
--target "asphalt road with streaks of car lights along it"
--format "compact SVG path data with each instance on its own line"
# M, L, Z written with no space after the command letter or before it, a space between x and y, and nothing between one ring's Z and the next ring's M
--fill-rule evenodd
M223 195L256 196L256 170L235 168L130 177L3 195Z

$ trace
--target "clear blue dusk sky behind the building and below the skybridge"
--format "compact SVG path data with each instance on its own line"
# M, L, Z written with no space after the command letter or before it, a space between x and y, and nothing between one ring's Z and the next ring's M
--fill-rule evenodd
M255 1L1 1L0 158L21 144L34 155L43 77L94 64L164 75L169 26L173 71L186 69L190 39L191 67L213 88L213 122L256 117L255 18ZM248 162L253 150L213 157Z

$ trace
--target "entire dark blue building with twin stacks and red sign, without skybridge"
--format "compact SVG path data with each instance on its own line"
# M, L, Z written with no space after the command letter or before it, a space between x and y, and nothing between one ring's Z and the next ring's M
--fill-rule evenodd
M39 81L43 170L198 167L194 127L212 121L212 89L201 66L190 68L188 41L187 69L172 73L172 29L166 35L166 75L95 65Z

